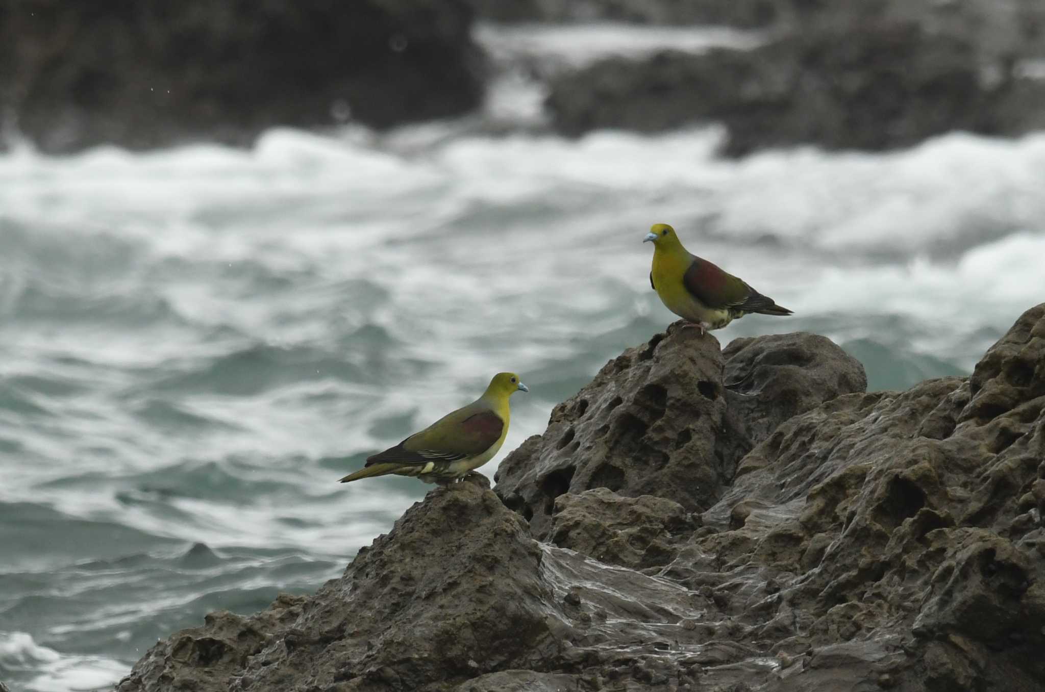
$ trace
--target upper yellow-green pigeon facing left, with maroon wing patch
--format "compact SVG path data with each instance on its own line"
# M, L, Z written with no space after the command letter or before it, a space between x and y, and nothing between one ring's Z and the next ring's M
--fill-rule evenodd
M748 313L791 314L743 280L691 255L667 223L654 223L646 240L653 243L653 290L669 310L698 327L701 334Z

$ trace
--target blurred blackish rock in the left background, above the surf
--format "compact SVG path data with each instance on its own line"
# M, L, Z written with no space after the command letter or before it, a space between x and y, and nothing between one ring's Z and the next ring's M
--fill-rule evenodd
M9 4L0 113L46 152L387 127L467 112L483 93L461 0Z

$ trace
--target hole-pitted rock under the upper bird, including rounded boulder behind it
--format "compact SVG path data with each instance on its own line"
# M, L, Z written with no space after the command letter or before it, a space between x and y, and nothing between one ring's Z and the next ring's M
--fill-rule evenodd
M556 498L595 487L702 511L781 421L866 386L863 366L823 337L742 339L722 353L679 324L609 361L501 462L495 491L534 535L549 534Z

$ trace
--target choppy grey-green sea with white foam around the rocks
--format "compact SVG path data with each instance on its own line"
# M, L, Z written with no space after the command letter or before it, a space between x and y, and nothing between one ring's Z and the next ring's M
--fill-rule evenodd
M968 375L1045 301L1045 134L717 156L715 125L552 134L544 81L714 27L480 26L483 113L375 133L0 154L0 681L108 689L204 614L338 576L431 486L338 479L473 400L497 461L675 317L651 223L794 310L872 389ZM651 108L655 104L651 104Z

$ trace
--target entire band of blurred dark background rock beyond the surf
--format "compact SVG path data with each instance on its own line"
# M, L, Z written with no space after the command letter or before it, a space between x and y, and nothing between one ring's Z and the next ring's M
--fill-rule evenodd
M552 125L570 136L722 122L724 152L742 156L1045 127L1045 80L1027 69L1045 58L1038 0L24 0L0 3L0 142L18 132L45 152L249 144L274 125L462 115L490 78L473 15L767 37L750 51L611 56L538 74Z

